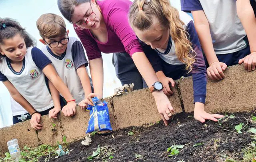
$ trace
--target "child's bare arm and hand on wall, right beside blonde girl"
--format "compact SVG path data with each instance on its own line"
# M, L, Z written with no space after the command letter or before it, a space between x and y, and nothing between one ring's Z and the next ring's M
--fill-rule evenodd
M194 18L196 31L198 33L202 49L210 66L207 68L207 74L211 79L220 80L224 78L223 71L226 69L227 65L223 62L219 62L214 52L210 26L206 15L202 10L191 11L191 13Z

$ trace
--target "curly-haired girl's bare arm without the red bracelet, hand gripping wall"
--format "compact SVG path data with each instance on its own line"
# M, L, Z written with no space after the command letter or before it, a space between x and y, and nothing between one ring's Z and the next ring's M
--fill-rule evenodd
M12 83L9 80L6 80L3 82L3 84L6 86L8 91L10 92L12 98L18 102L30 115L32 115L30 120L30 125L32 128L38 130L42 129L42 125L40 123L41 115L40 113L35 113L36 110L30 105L30 103L16 90L16 88L12 85Z

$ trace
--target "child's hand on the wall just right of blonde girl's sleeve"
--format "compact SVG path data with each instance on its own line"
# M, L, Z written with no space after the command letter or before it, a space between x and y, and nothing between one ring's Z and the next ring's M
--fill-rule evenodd
M208 68L207 68L207 74L209 78L212 80L220 80L224 78L223 71L226 70L228 66L223 62L213 62Z

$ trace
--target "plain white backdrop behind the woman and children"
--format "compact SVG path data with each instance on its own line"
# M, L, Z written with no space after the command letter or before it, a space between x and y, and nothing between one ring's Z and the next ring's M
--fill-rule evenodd
M132 0L133 1L133 0ZM170 0L172 5L180 9L180 0ZM10 17L20 22L37 40L37 47L41 48L42 43L38 40L40 35L36 27L36 20L45 13L54 13L61 15L57 0L0 0L0 17ZM77 37L73 27L66 21L67 29L70 30L69 36ZM121 86L116 78L114 66L112 65L112 55L103 54L104 62L104 96L114 94L114 88ZM12 111L10 105L10 94L4 84L0 82L0 128L12 125Z

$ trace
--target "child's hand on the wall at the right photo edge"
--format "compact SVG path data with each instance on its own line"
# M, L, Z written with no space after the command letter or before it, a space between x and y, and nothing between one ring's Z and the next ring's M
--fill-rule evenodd
M250 55L239 60L238 64L244 63L244 69L248 71L255 70L256 66L256 52L252 52Z

